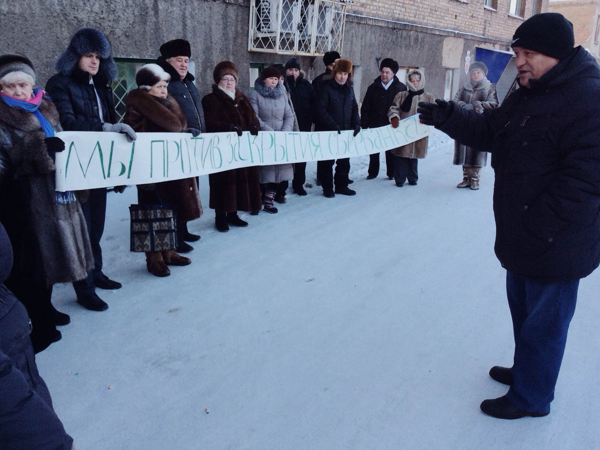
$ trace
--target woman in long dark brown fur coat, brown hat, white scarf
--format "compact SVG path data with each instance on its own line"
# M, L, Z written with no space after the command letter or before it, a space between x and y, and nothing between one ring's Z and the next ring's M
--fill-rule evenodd
M215 84L212 92L202 98L206 131L242 132L258 135L259 119L256 118L250 99L235 86L238 83L238 68L230 61L217 64L212 73ZM244 167L210 174L210 207L215 210L215 226L218 231L229 231L229 225L248 226L238 211L260 210L259 171L255 167Z

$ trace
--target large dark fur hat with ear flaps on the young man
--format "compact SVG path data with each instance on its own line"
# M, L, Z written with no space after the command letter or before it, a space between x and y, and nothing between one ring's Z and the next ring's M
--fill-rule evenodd
M79 64L79 58L88 53L97 53L100 56L100 69L98 74L110 83L116 78L116 64L111 55L112 49L106 35L97 28L78 29L67 50L62 52L56 61L56 70L63 75L71 75Z

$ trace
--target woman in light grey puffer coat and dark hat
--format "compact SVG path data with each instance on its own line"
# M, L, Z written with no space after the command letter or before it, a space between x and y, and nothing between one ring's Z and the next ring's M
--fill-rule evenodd
M254 82L250 102L259 118L261 131L292 131L294 114L287 101L286 88L279 82L281 73L274 67L266 67ZM275 193L281 182L294 177L292 164L272 164L259 167L259 181L266 185L264 210L277 213L273 206Z

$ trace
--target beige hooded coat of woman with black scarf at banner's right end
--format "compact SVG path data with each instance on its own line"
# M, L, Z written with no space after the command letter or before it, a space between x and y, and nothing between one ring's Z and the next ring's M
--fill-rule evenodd
M419 81L419 86L415 87L410 82L410 75L419 74L421 75L421 81ZM429 92L423 92L420 95L414 95L412 98L412 103L410 104L410 110L408 112L400 109L404 100L409 96L409 92L417 92L418 90L425 88L425 74L420 70L413 69L406 74L406 86L409 90L405 90L404 92L399 92L394 98L394 104L389 108L388 111L388 123L392 120L392 117L398 117L399 120L406 119L406 117L414 116L416 114L416 109L419 107L419 102L434 102L435 97L433 94ZM429 140L427 137L419 139L413 143L407 144L402 147L397 147L392 149L391 152L396 156L402 156L403 158L418 158L422 159L427 156L427 144Z

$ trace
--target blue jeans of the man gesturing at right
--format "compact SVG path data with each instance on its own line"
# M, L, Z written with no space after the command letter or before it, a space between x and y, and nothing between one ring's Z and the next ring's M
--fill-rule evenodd
M520 409L550 412L578 286L579 280L547 283L506 273L515 336L515 383L506 396Z

